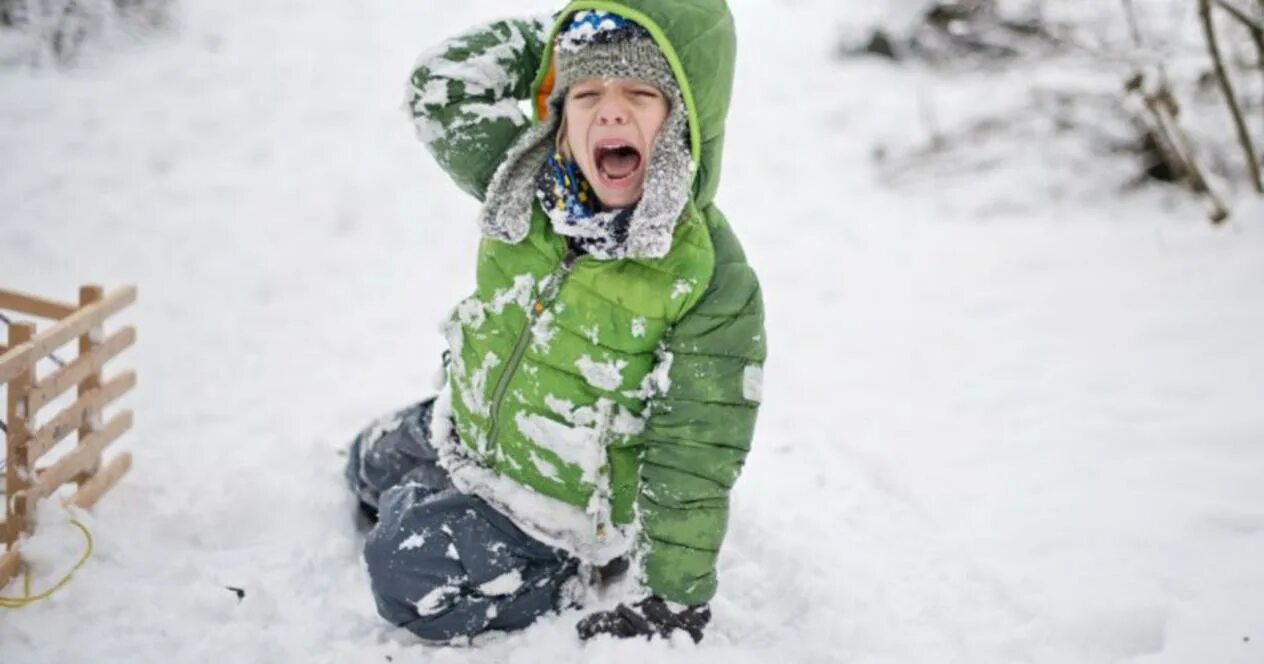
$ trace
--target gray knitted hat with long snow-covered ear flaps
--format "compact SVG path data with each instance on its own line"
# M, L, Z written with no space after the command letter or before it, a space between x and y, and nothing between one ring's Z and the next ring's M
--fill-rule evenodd
M483 233L509 243L531 229L536 175L554 149L566 92L585 78L633 78L667 97L667 118L650 149L641 201L632 211L623 252L628 258L661 258L671 250L676 220L689 202L691 158L689 119L675 73L643 27L609 11L576 11L554 47L547 118L509 147L488 185L479 223Z

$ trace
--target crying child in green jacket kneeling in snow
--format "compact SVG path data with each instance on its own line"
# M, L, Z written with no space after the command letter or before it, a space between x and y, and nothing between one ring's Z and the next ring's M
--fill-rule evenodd
M485 238L446 387L362 433L346 469L392 624L522 629L631 563L641 594L580 636L702 639L765 358L713 202L733 59L724 0L581 0L417 66L418 133Z

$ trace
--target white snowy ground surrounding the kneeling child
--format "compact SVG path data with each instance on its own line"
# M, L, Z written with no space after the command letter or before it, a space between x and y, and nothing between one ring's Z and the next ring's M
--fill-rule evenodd
M719 200L771 358L707 640L583 648L574 613L460 650L389 629L339 452L430 392L477 243L403 80L552 4L185 5L78 71L0 72L0 283L139 285L142 379L96 553L0 613L5 664L1264 660L1264 206L1212 230L1183 196L1103 195L1126 163L1068 192L1031 154L880 187L868 153L923 130L919 95L951 113L1021 76L842 66L832 0L733 0ZM46 516L37 586L80 546Z

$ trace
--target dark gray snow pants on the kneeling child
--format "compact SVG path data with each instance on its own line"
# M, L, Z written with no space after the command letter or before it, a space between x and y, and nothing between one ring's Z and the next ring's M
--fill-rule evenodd
M430 444L434 400L351 443L346 479L378 522L364 559L378 612L430 641L518 630L561 603L578 563L453 487Z

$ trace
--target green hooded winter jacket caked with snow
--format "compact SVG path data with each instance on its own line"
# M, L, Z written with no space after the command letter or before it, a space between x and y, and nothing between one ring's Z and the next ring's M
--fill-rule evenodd
M559 19L580 9L636 20L667 56L688 106L693 199L662 258L575 255L538 206L522 242L483 240L477 291L446 328L453 420L461 453L483 472L463 488L590 562L626 553L621 541L635 535L650 591L702 603L715 593L765 359L758 281L713 202L732 16L724 0L624 0L571 3ZM479 200L528 125L521 106L546 80L561 20L494 23L412 75L420 138ZM514 513L530 501L503 496L506 479L559 508ZM559 535L550 520L585 532Z

